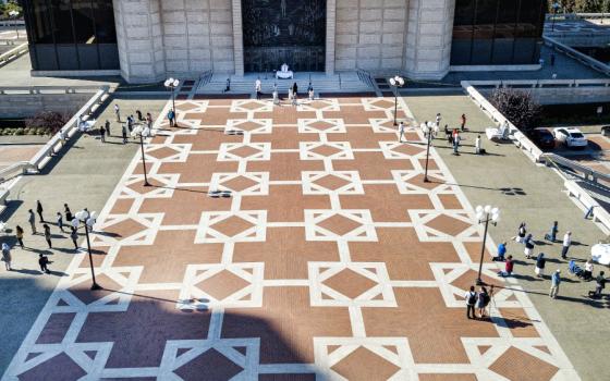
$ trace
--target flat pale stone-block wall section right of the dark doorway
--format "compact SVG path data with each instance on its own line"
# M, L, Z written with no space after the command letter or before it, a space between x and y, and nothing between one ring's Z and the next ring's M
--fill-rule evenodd
M335 70L400 71L408 0L337 0Z

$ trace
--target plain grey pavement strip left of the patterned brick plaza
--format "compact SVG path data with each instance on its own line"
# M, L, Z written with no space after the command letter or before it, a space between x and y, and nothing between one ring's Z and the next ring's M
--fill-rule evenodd
M136 109L158 112L164 100L155 99L115 99L123 113ZM75 256L74 246L68 234L59 232L54 225L54 214L63 211L68 202L73 212L83 208L101 210L119 179L125 171L130 159L138 148L136 144L123 146L118 137L120 127L114 122L112 103L100 111L98 121L112 121L112 134L102 145L97 136L75 135L68 145L45 168L41 175L23 176L11 189L7 209L0 220L7 221L13 229L20 224L25 230L25 250L13 248L13 267L15 271L0 270L0 327L2 327L2 345L0 346L0 373L7 369L32 324L42 309L58 281L65 276L64 270ZM145 111L146 112L146 111ZM35 209L36 200L41 200L45 218L51 223L53 249L49 250L44 237L30 235L27 223L27 210ZM66 221L64 221L68 224ZM38 225L38 231L42 231ZM11 236L0 235L0 243L15 241ZM49 254L53 261L49 268L51 275L38 271L38 253Z

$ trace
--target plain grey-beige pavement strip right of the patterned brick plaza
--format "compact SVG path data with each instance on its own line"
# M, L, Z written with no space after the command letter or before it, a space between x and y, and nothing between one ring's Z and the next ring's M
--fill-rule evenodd
M590 221L585 220L584 210L573 204L563 192L563 180L551 169L534 164L513 144L492 144L485 137L484 130L490 120L466 97L407 97L404 98L419 121L434 120L437 112L443 116L442 125L460 125L462 113L467 114L469 133L461 156L453 156L447 140L436 139L435 146L461 189L473 205L492 205L501 208L502 219L498 226L490 228L496 243L509 241L509 254L517 260L516 278L527 291L544 321L572 360L583 380L609 380L610 368L606 360L610 353L610 327L608 309L610 300L593 302L586 297L595 288L595 282L583 282L568 273L568 263L561 260L561 244L544 242L552 221L559 221L559 238L566 230L573 232L575 245L569 257L580 262L590 257L591 245L605 238L605 234ZM475 156L476 134L483 136L484 148L490 155ZM534 261L523 255L523 246L510 238L516 235L518 224L525 221L534 238L540 243L535 254L547 255L547 274L561 269L563 283L559 298L548 297L550 280L539 280L534 274ZM583 263L581 263L582 266ZM595 274L608 268L595 267Z

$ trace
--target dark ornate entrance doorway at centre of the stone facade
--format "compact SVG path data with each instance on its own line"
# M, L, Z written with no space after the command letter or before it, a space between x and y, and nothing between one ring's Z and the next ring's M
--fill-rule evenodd
M242 0L244 70L324 72L326 0Z

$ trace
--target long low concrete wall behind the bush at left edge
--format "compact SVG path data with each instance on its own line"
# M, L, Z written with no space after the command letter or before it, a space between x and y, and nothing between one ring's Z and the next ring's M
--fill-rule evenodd
M41 110L72 115L93 95L94 93L0 95L0 118L30 118Z

